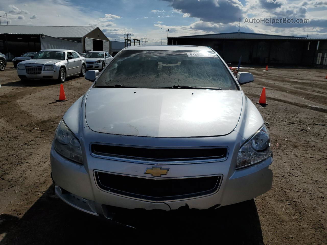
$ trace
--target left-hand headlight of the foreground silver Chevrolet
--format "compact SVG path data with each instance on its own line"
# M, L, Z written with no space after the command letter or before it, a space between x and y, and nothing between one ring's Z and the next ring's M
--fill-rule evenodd
M83 164L80 143L62 120L56 129L54 148L60 155Z

